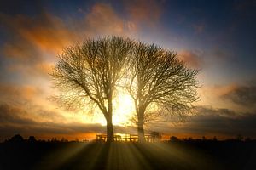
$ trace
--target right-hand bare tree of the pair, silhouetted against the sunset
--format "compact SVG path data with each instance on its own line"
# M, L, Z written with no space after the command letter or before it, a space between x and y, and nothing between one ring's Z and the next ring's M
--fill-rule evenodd
M144 141L144 123L154 105L159 116L189 115L199 99L198 71L191 70L172 51L138 42L134 48L126 89L134 100L139 141Z

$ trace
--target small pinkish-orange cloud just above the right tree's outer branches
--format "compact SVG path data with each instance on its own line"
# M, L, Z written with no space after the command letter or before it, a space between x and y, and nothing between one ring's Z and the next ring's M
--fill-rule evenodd
M199 69L202 67L203 60L201 59L199 54L196 54L196 52L189 51L189 50L183 50L177 53L180 59L183 59L183 61L189 65L192 68Z

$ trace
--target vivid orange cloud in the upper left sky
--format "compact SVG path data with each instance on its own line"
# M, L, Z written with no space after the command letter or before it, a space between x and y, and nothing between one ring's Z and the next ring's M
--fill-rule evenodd
M1 20L17 37L23 39L20 41L29 42L41 50L55 52L75 39L73 32L65 26L63 20L52 14L44 13L36 17L1 14Z

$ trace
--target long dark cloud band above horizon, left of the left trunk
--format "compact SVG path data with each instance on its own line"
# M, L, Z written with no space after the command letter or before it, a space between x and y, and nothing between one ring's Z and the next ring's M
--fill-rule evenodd
M26 117L28 113L20 107L12 105L0 105L0 124L3 129L6 126L17 129L20 132L31 133L68 133L68 132L99 132L102 129L100 125L82 125L82 123L60 123L60 122L37 122L32 118ZM48 114L48 115L45 115ZM41 111L39 116L48 118L55 115L53 112ZM63 118L63 117L62 117ZM61 119L61 117L58 117ZM87 127L86 127L87 126ZM6 128L5 128L6 129Z

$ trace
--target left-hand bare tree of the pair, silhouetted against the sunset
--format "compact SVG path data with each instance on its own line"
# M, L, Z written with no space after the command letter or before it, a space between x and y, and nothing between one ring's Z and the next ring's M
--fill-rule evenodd
M52 77L66 107L96 105L107 121L107 141L113 141L113 95L131 54L132 42L122 37L86 40L59 54Z

